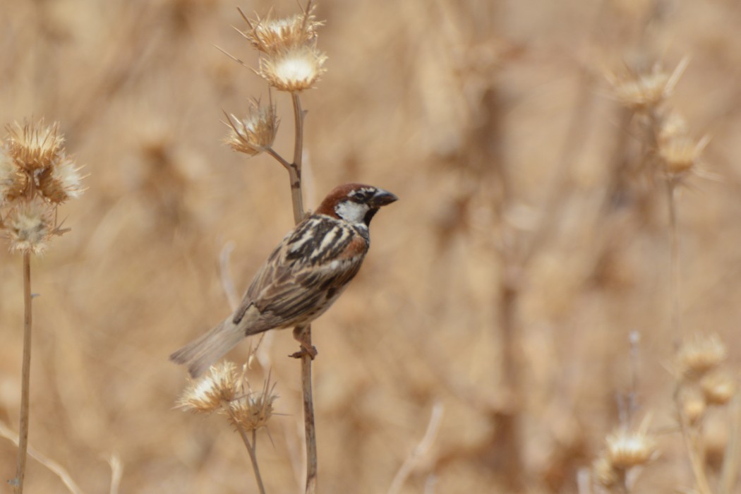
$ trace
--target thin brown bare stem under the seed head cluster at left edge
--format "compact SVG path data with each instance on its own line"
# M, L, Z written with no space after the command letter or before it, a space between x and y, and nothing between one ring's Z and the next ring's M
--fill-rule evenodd
M23 481L26 475L26 458L28 450L28 398L30 395L31 375L31 253L23 253L23 369L21 371L21 423L19 425L18 467L14 492L23 493Z

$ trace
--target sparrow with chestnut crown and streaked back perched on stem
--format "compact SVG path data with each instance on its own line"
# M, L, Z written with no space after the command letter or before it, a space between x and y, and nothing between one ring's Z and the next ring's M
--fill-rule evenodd
M358 273L371 246L371 219L379 208L397 199L388 190L371 185L336 187L268 256L239 307L208 333L173 353L170 360L187 365L195 378L242 338L310 324L329 309ZM305 350L312 353L313 349Z

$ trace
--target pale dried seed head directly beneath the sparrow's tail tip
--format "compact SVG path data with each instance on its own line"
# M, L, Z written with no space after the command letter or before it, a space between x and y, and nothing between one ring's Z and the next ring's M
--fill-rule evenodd
M228 406L237 390L237 370L230 361L223 361L210 368L209 373L185 388L178 400L178 407L196 413L210 413Z

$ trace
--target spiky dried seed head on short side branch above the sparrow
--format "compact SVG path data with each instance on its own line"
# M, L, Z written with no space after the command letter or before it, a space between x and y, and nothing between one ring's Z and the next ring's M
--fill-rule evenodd
M273 104L262 105L259 100L250 100L250 109L244 119L227 116L230 133L225 139L233 150L250 156L262 153L273 145L278 133L279 119Z

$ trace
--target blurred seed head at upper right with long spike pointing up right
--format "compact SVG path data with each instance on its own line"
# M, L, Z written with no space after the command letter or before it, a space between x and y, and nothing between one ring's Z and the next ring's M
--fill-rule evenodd
M650 73L629 70L625 76L608 75L615 97L625 107L637 112L652 110L659 106L671 93L687 68L689 59L682 59L673 73L667 73L654 65Z

